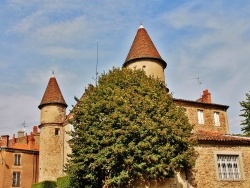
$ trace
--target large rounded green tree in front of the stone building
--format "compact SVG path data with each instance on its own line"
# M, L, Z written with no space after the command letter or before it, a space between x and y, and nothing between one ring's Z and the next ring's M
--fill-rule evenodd
M132 187L195 161L192 125L166 86L143 71L114 68L73 109L71 187Z

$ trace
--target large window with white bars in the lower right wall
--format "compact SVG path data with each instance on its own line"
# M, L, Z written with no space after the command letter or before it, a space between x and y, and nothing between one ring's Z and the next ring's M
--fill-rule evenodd
M239 155L217 155L220 180L240 180Z

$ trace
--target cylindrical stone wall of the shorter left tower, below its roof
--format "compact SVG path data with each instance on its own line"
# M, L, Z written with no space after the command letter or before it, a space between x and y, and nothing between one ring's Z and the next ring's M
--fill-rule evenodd
M63 121L66 108L50 104L41 108L39 182L55 181L63 175Z

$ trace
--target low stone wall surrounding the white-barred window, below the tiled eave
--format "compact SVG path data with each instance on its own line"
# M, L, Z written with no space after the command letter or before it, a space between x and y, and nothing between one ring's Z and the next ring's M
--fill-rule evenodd
M216 146L199 145L196 147L199 157L193 171L195 180L192 185L197 188L249 188L250 187L250 147L249 146ZM241 155L241 175L238 181L218 179L216 152L238 153Z

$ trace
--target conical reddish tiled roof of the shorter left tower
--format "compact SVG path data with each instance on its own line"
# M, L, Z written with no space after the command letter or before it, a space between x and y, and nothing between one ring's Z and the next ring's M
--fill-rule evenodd
M38 108L41 109L41 107L46 104L62 104L67 107L62 92L54 76L49 79L49 83Z

